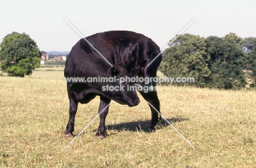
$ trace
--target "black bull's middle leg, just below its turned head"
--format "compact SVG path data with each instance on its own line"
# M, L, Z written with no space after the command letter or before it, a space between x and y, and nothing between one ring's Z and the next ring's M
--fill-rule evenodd
M109 106L106 109L104 109L104 108L107 105L109 105L111 100L103 97L102 95L101 95L100 99L101 99L100 107L98 107L98 113L101 112L101 114L100 114L100 126L98 127L96 137L98 137L100 139L103 139L104 137L106 137L106 134L107 134L107 127L106 127L106 124L105 124L105 120L106 120L106 117L108 115L108 107Z

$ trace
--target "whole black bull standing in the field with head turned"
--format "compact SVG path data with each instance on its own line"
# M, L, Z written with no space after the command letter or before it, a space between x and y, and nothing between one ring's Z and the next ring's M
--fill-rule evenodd
M93 48L86 40L90 42L101 55L107 59L111 65ZM154 41L143 34L129 31L110 31L97 33L80 39L72 47L68 55L64 75L67 77L156 77L156 71L161 62L162 56L159 46ZM153 62L152 62L153 61ZM148 67L147 65L152 62ZM147 82L146 82L147 83ZM156 83L139 83L139 85L153 86ZM106 91L103 86L122 86L124 91ZM138 84L138 83L137 83ZM127 91L127 87L136 85L130 81L117 82L67 82L67 92L69 98L69 121L64 137L73 135L74 118L77 112L78 103L86 104L94 99L96 95L100 96L100 113L111 100L120 104L136 106L139 104L139 98L136 91ZM143 92L139 91L144 99L149 101L156 110L160 112L160 103L156 90ZM149 106L152 112L152 125L154 129L161 117L153 107ZM108 114L108 107L100 114L100 126L96 136L106 137L105 119Z

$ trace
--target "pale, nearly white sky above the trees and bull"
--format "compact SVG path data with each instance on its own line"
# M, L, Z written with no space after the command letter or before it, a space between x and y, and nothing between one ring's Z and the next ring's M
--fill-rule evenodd
M160 49L184 33L209 37L232 32L256 37L256 1L13 1L0 0L0 43L26 33L40 51L70 51L82 37L114 30L141 33ZM66 20L67 21L66 21Z

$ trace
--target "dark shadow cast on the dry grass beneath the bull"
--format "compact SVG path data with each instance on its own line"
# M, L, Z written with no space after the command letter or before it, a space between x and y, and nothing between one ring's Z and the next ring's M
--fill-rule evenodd
M167 121L172 123L188 121L188 118L167 118ZM133 121L125 122L113 125L107 125L108 130L117 130L117 131L143 131L144 133L152 133L154 130L149 129L151 126L151 120L147 121ZM165 120L164 124L160 124L156 129L161 129L162 127L170 126ZM97 130L95 130L97 131Z

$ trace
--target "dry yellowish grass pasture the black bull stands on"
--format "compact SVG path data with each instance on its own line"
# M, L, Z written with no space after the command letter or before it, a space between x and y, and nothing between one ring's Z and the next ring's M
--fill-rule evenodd
M63 67L31 76L0 77L0 167L255 167L255 91L159 86L161 112L171 127L154 132L150 110L113 102L108 137L94 139L99 118L66 150L68 98ZM99 99L79 104L78 134L96 115Z

